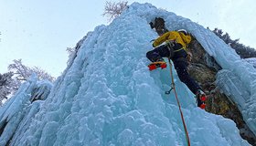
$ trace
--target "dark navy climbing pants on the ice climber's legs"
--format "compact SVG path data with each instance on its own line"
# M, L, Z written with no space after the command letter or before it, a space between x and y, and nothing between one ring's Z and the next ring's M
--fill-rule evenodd
M177 44L175 46L175 50L181 48L182 46L180 44ZM165 47L165 45L160 47L155 47L154 50L148 51L146 53L146 57L151 60L152 62L155 62L160 57L169 57L170 52L168 47ZM198 89L201 89L194 78L191 78L187 71L187 52L184 49L181 49L177 52L175 52L174 57L172 57L172 61L174 62L176 72L178 75L178 78L187 85L187 88L190 89L194 94L197 93Z

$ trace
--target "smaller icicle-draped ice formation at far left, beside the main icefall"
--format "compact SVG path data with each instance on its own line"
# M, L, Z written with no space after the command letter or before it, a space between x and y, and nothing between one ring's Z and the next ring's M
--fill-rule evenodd
M51 87L48 80L38 81L37 76L32 75L16 95L5 102L0 109L0 145L8 145L14 134L19 133L17 129L22 129L23 123L35 116Z

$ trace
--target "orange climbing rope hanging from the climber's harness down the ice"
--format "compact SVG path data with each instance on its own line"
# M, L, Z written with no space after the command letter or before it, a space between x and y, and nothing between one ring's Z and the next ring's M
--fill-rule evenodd
M189 136L188 136L188 132L187 132L187 126L186 126L186 123L185 123L185 120L184 120L184 117L183 117L183 113L182 113L182 110L181 110L181 107L180 107L180 103L179 103L179 100L178 100L177 94L176 94L176 86L175 86L175 80L174 80L174 76L173 76L173 69L172 69L172 63L171 63L170 57L168 57L168 60L169 60L169 65L170 65L172 85L171 85L171 89L169 91L166 91L165 93L168 94L168 93L170 93L170 91L172 89L174 89L174 92L175 92L175 95L176 95L176 102L177 102L177 105L178 105L178 108L179 108L181 120L183 122L183 127L184 127L185 134L186 134L187 145L190 146L190 140L189 140Z

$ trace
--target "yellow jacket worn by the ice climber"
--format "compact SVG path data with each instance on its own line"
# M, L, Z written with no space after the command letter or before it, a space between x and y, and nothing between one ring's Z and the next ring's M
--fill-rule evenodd
M159 36L157 39L155 39L155 42L153 43L153 47L157 47L164 43L165 41L174 41L176 43L179 43L182 45L182 47L187 46L187 44L191 41L191 36L184 35L183 33L179 33L177 31L169 31L166 32L164 35Z

